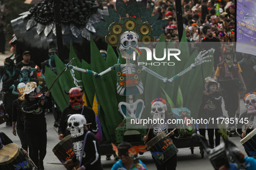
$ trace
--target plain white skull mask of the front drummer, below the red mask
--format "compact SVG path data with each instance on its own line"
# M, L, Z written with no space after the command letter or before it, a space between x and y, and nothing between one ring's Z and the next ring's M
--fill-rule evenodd
M84 134L84 125L86 125L86 119L81 114L73 114L68 118L68 130L71 133L72 138L76 138Z

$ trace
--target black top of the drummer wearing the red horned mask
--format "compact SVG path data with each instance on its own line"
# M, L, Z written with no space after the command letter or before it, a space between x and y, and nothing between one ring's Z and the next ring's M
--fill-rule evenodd
M60 123L58 126L58 133L63 134L64 137L70 134L70 131L67 130L68 127L68 118L73 114L81 114L84 115L87 123L92 123L91 125L87 126L88 130L96 134L98 132L98 127L96 123L95 113L90 107L83 106L80 110L74 110L71 106L65 107L62 111L62 116L60 119Z

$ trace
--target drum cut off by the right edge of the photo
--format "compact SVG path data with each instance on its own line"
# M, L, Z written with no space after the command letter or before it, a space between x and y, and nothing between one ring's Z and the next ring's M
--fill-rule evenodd
M242 140L241 144L245 150L254 158L256 158L256 129L248 133Z

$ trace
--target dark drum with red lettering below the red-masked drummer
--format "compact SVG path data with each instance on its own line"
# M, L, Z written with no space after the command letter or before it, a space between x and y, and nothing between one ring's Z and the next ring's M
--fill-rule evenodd
M73 151L73 145L71 141L71 135L66 136L62 139L53 149L53 153L58 157L62 163L65 163L68 159L75 154Z

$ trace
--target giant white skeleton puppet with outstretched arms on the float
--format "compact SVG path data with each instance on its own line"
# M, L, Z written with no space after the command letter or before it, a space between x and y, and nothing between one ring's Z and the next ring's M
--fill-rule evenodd
M85 73L89 73L91 75L94 75L96 77L103 76L107 72L110 72L111 70L115 70L117 74L117 93L122 96L129 96L129 103L126 102L120 102L118 104L118 108L120 113L125 118L127 113L129 116L131 116L133 119L140 119L143 109L144 109L144 101L141 99L136 100L133 102L133 95L143 94L144 88L143 84L140 80L140 73L142 71L149 72L153 76L157 77L158 79L161 79L164 83L170 82L172 83L174 80L178 79L180 76L184 75L186 72L190 71L191 69L196 68L196 66L201 65L202 63L209 62L211 60L204 60L208 57L212 57L210 55L207 56L207 54L211 50L207 51L201 51L198 56L195 58L195 63L192 63L191 66L189 66L184 71L180 72L176 76L172 77L171 79L164 78L157 74L156 72L153 72L152 70L148 69L146 66L139 67L134 63L130 63L131 60L133 60L133 49L138 48L138 35L132 31L126 31L120 36L120 45L118 47L118 50L120 52L120 55L123 59L126 60L126 64L116 64L108 69L106 69L103 72L100 72L99 74L96 72L91 72L90 70L81 69L75 66L69 65L68 67L70 69L75 69L78 71L82 71ZM205 57L204 57L205 56ZM138 56L137 56L138 60ZM139 107L137 107L139 105ZM122 109L126 108L126 109ZM137 108L139 108L137 110Z

